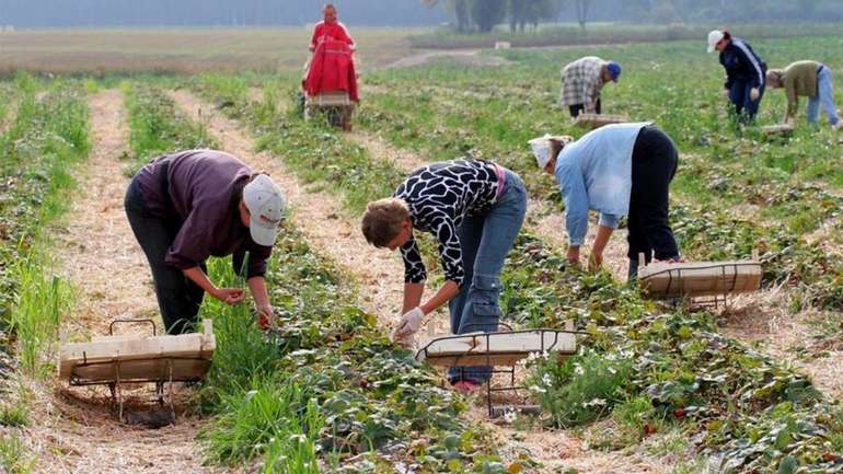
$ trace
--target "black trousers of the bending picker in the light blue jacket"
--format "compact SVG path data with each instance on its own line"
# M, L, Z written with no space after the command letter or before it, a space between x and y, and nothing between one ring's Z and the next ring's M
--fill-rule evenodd
M632 157L630 197L630 276L637 274L638 254L649 263L679 256L673 231L668 224L669 187L677 173L679 152L675 144L656 127L642 128Z

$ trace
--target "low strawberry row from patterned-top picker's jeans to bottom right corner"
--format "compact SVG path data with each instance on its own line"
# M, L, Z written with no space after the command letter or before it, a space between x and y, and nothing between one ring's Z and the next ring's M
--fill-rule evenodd
M275 94L277 88L277 84L267 85L267 96ZM207 83L200 83L198 89L213 94ZM267 130L307 127L310 132L328 132L317 126L296 124L298 119L286 114L276 113L275 124L267 124L273 114L267 113L266 107L266 102L251 102L242 96L229 109L246 122L264 117L262 123ZM270 107L277 108L277 105ZM412 132L407 129L407 134ZM278 151L285 155L302 153L292 143ZM353 160L356 157L346 161L343 154L337 154L331 163L350 167ZM370 160L372 163L368 166L388 165L382 160ZM401 173L397 170L393 173L399 175L394 181L371 186L394 188ZM326 185L330 183L340 194L355 192L348 185L337 185L334 176L325 171L316 178ZM747 240L753 236L748 235ZM724 242L730 239L734 235L721 238ZM784 252L781 258L787 259L786 250L776 251ZM643 300L637 290L615 284L607 274L564 270L564 264L562 256L523 235L504 275L505 311L515 322L524 326L559 327L563 321L573 317L590 334L585 342L590 348L588 352L565 363L540 366L535 372L534 389L547 408L548 421L571 426L615 417L615 409L620 411L617 418L630 419L630 411L634 411L642 419L661 420L659 426L678 427L688 436L694 436L698 451L721 459L724 466L752 466L764 472L777 469L781 463L796 462L796 465L810 466L810 472L822 472L840 465L840 429L835 421L839 413L821 400L804 377L740 343L719 336L712 314L683 310L659 312L653 303ZM617 371L631 375L609 377ZM643 398L648 402L645 407L642 407ZM645 430L644 425L640 429ZM648 425L647 429L653 426ZM786 435L782 439L766 444L766 440L783 430ZM822 436L810 436L816 432ZM760 448L754 451L742 448L753 443Z

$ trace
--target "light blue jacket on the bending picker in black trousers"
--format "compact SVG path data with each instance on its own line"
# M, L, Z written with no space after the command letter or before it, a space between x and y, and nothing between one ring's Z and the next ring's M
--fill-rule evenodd
M555 174L565 199L569 245L585 242L589 210L600 212L600 226L612 229L617 228L621 216L630 212L633 148L638 132L648 125L607 125L559 152Z

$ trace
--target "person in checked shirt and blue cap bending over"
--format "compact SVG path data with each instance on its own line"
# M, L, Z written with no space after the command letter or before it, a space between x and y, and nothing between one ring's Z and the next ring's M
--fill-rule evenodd
M617 82L621 65L597 56L586 56L562 68L559 106L567 106L570 116L580 113L600 114L600 91L609 82Z

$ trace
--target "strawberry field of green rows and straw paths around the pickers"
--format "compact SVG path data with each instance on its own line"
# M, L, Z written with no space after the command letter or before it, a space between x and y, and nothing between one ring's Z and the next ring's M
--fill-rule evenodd
M771 67L843 70L840 36L752 44ZM685 258L758 252L760 293L709 310L646 300L624 282L624 232L604 271L565 265L559 193L527 140L584 134L555 103L561 65L591 54L624 66L604 113L653 120L679 146L671 224ZM736 128L702 41L414 62L362 76L347 134L299 117L295 76L0 82L0 472L843 472L843 135L801 109L789 137ZM840 74L834 85L840 104ZM767 91L759 123L784 112ZM123 195L149 159L196 147L268 171L291 201L268 274L280 330L266 337L246 307L206 301L209 379L180 390L180 423L150 435L117 424L105 391L62 386L54 356L59 333L155 313ZM388 338L403 269L366 244L359 216L417 165L466 154L515 170L531 195L504 270L506 322L587 333L577 356L521 370L539 416L488 420L482 397L443 390ZM423 248L438 268L434 242ZM212 279L242 286L230 267L211 262Z

